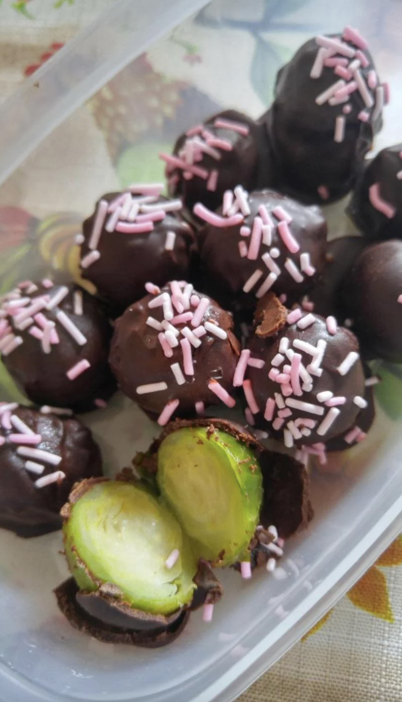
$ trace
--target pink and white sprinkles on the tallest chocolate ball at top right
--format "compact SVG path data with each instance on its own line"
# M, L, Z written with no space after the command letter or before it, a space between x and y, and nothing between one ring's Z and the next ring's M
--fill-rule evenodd
M334 140L342 143L347 124L347 115L351 113L351 95L356 91L361 97L363 109L358 114L358 119L368 122L375 121L382 112L384 105L389 102L389 86L387 83L379 84L374 69L364 73L370 65L370 58L366 51L368 44L356 29L345 27L342 37L316 37L319 50L311 67L310 78L321 77L324 68L332 68L335 82L323 93L316 97L316 104L323 105L328 102L331 106L343 105L342 113L335 117ZM330 192L326 185L320 185L319 195L326 200Z

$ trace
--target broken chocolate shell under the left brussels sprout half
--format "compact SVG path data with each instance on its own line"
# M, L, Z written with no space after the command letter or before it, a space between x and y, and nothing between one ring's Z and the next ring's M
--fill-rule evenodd
M99 595L80 592L74 578L68 578L54 592L59 609L75 629L109 644L130 644L152 649L166 646L182 633L190 615L189 611L182 611L163 617L164 622L161 617L155 617L154 627L144 628L141 626L142 618L121 614L105 598L102 598L102 604L95 602L95 598L101 599ZM117 609L117 613L114 609ZM121 618L118 614L121 614Z

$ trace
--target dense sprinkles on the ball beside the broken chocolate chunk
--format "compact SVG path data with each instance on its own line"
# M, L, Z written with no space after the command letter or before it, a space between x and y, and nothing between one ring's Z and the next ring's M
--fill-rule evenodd
M311 313L303 315L300 309L296 309L289 312L287 322L297 324L298 329L303 330L315 324L316 317ZM337 333L335 317L327 317L326 325L328 333L335 336ZM304 392L310 393L314 390L315 378L321 378L323 373L321 364L326 347L327 342L324 339L319 339L314 346L300 338L295 338L292 344L287 336L283 336L279 343L279 352L269 366L268 377L274 383L278 383L278 392L274 392L273 397L267 398L263 410L264 419L272 423L275 431L283 430L283 442L288 448L291 448L294 442L301 442L303 437L309 437L312 430L325 439L328 430L342 411L340 408L347 402L347 397L335 397L330 390L319 392L316 395L318 402L306 402L303 399ZM340 376L346 376L358 359L359 354L351 351L334 370ZM244 379L248 365L264 369L266 364L260 359L250 358L250 350L245 349L241 352L234 373L233 385L234 387L243 386L248 404L247 417L250 420L249 423L253 425L255 423L253 415L259 412L260 408L255 400L250 380ZM264 372L267 372L267 369ZM353 398L353 402L361 409L367 406L366 399L358 395ZM357 439L358 436L361 438ZM347 443L352 443L363 438L363 432L359 430L352 437L347 435L345 440ZM322 442L312 446L302 446L302 451L318 453L323 461L325 461L325 450L325 444Z

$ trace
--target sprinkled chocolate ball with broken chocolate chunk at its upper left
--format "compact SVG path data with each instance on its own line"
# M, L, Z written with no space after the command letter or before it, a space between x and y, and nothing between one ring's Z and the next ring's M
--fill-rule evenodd
M322 444L351 428L366 404L359 343L311 312L293 310L287 319L274 336L257 326L246 401L257 424L286 446Z

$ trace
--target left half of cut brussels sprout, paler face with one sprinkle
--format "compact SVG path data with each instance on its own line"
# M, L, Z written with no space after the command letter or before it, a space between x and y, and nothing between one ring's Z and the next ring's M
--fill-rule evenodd
M94 483L71 507L63 531L70 570L81 590L102 583L151 614L171 614L192 600L197 562L172 512L132 483ZM166 559L180 553L170 569Z

